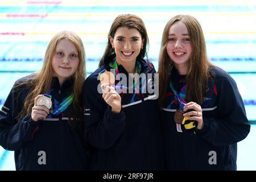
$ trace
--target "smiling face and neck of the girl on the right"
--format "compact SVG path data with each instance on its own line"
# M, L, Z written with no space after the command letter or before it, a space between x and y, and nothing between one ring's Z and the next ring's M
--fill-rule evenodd
M183 22L175 22L170 27L166 49L180 75L185 75L192 46L188 29Z

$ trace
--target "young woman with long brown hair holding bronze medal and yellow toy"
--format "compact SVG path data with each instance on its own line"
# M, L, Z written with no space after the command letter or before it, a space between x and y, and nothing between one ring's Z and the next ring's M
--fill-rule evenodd
M237 142L250 131L236 82L207 59L191 15L170 19L159 56L166 169L236 170Z

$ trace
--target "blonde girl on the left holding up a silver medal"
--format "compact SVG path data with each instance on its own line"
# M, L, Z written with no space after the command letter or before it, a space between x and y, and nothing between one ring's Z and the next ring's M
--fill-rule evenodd
M72 31L48 44L43 68L15 82L0 112L0 144L17 170L86 170L82 134L85 51Z

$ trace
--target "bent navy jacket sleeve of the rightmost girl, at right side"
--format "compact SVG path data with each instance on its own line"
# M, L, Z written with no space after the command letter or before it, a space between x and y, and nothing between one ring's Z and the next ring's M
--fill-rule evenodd
M226 76L218 80L216 85L218 116L203 116L204 128L198 134L214 146L240 142L249 134L250 124L236 82Z

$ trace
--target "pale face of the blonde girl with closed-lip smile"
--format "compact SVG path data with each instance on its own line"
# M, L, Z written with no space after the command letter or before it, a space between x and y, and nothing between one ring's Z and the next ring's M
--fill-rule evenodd
M60 85L71 77L79 66L79 53L75 44L68 39L62 39L56 46L51 61L53 76L59 78Z

